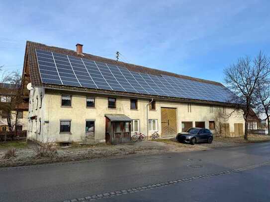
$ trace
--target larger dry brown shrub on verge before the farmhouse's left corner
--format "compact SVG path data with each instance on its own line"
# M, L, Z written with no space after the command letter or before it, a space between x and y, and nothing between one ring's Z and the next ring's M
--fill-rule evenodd
M57 156L57 149L52 142L37 143L34 150L36 157L55 158Z

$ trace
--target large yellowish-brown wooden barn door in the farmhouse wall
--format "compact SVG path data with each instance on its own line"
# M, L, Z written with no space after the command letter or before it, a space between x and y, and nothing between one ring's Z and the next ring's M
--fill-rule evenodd
M175 108L161 108L162 137L176 136L177 117Z

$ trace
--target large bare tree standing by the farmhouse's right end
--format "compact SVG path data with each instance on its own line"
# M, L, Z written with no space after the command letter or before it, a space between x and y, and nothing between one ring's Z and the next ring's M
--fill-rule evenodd
M270 74L270 60L262 52L254 59L239 58L237 63L224 69L224 74L226 86L233 93L231 102L238 103L237 107L244 111L244 138L248 139L248 118L258 103L255 91L264 85Z

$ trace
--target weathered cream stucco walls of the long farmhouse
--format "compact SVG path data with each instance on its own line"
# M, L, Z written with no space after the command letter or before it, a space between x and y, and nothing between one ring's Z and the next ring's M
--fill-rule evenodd
M61 106L63 94L72 96L70 107ZM88 108L86 98L95 99L95 107ZM108 108L108 97L116 98L116 108ZM42 99L42 105L40 101ZM137 99L137 109L130 109L130 99ZM192 104L184 102L173 102L166 100L155 100L156 110L149 110L149 99L109 96L94 93L83 93L75 91L52 90L44 88L33 88L29 97L28 133L29 139L39 141L71 142L82 141L86 135L86 121L94 121L94 139L105 141L105 114L124 114L133 120L139 120L139 132L152 135L153 131L147 129L148 119L158 122L157 131L162 135L161 108L175 108L177 113L177 133L182 131L182 122L204 122L205 128L209 129L209 121L216 121L222 106L210 106L207 104ZM189 105L189 106L188 106ZM231 114L227 119L219 118L222 123L228 123L230 136L234 136L234 124L243 124L243 115L239 111L226 108L224 113ZM68 120L71 123L71 133L60 133L60 121ZM33 124L32 124L33 122ZM244 130L244 129L243 129ZM214 132L214 131L213 131Z

